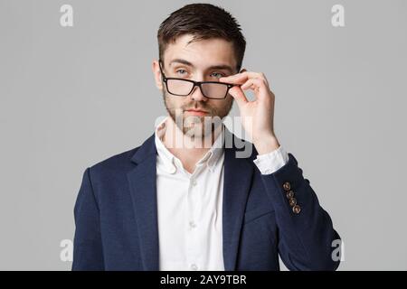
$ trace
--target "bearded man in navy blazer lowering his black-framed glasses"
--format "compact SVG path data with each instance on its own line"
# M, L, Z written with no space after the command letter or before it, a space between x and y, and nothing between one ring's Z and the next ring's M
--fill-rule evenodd
M72 269L279 270L280 256L290 270L335 270L339 236L274 134L268 80L241 70L236 20L185 5L157 38L152 69L169 116L144 144L84 173ZM254 145L245 157L237 144L251 143L226 145L233 100Z

